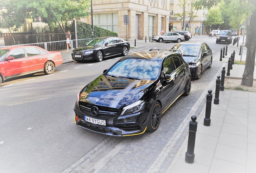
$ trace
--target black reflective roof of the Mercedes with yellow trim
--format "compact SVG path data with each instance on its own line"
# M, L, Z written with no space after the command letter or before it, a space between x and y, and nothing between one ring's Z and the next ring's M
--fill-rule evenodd
M126 59L149 59L149 60L159 60L162 61L168 55L180 56L178 52L170 52L170 50L151 50L151 51L142 51L136 52L130 55L125 56Z

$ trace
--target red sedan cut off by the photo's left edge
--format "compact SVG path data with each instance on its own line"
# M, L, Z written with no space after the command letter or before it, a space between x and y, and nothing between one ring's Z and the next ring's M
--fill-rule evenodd
M62 62L60 52L49 52L38 46L0 48L0 85L8 78L26 74L52 74Z

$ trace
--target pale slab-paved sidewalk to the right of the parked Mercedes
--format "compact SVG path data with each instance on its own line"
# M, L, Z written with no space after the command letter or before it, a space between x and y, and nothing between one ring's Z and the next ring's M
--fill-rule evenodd
M229 45L229 57L233 50L237 55L239 54L239 47ZM237 55L235 55L235 60L240 60L240 56ZM225 67L227 67L227 57L223 58ZM242 60L245 61L245 58L246 48L243 50ZM217 60L218 58L215 57L214 59ZM244 67L245 65L234 64L229 77L242 78ZM256 74L254 73L255 78ZM214 93L215 91L212 93L213 101ZM170 163L167 173L256 172L256 93L225 90L220 91L219 105L214 105L213 101L211 126L203 125L205 107L196 120L198 127L194 163L185 162L185 154L188 148L187 135L178 153Z

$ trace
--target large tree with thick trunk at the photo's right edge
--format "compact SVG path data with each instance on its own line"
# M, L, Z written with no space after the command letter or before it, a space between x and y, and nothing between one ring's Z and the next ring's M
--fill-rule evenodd
M254 62L256 55L256 0L198 0L194 2L194 6L200 9L202 6L210 9L217 6L218 3L223 2L227 5L227 12L231 17L231 21L239 20L242 23L243 17L250 17L250 25L247 30L247 52L246 52L246 65L242 77L241 85L252 87ZM207 5L206 5L207 4ZM206 5L206 6L205 6ZM241 15L242 17L237 17Z

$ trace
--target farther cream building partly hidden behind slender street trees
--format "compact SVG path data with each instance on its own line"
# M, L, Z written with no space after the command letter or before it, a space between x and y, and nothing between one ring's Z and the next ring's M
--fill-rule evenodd
M178 0L170 0L169 4L169 10L170 10L170 16L169 16L169 31L173 30L182 30L182 24L183 24L183 18L180 17L174 17L173 14L178 13L182 14L184 9L180 7ZM191 12L191 1L187 1L185 5L185 20L184 20L184 26L188 24L190 20L190 12ZM196 14L197 17L195 17L190 24L188 24L188 27L185 27L185 30L189 31L191 34L204 34L207 33L207 28L204 26L204 20L206 20L207 10L193 10L194 15Z

